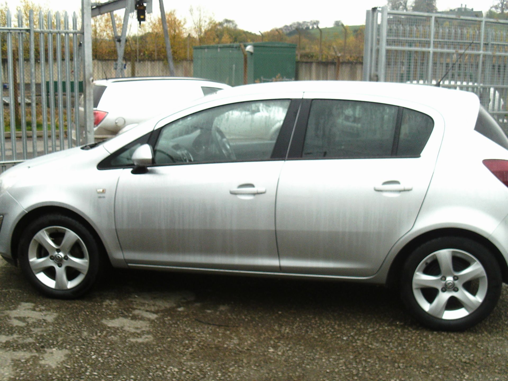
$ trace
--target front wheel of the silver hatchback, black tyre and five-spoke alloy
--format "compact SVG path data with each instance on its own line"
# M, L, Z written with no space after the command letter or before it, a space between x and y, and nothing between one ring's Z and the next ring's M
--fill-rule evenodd
M41 216L26 227L18 260L38 291L59 299L84 295L102 268L99 246L89 230L60 214Z

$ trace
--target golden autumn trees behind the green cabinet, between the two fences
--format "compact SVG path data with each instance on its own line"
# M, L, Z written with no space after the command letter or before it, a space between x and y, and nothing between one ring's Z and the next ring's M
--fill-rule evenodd
M168 32L171 42L171 50L173 59L180 61L184 59L192 59L193 46L213 45L213 44L231 44L231 43L247 43L263 41L281 41L298 44L299 38L296 34L291 33L291 25L302 24L309 26L302 29L300 36L300 51L304 59L317 59L319 35L316 35L316 27L319 21L312 20L309 22L293 23L290 26L285 25L281 28L273 28L272 30L263 32L263 34L255 34L240 29L237 23L231 19L217 21L214 17L201 7L190 10L191 20L188 28L185 19L176 16L175 10L166 13L168 22ZM122 19L115 16L118 34L121 31ZM135 28L135 20L130 20L129 28ZM308 24L308 25L307 25ZM109 15L102 15L93 18L93 57L100 59L115 59L116 48L113 41L112 25ZM288 29L288 30L285 30ZM346 56L359 59L363 54L363 27L355 31L347 33L347 51ZM290 33L288 33L288 31ZM335 57L334 46L342 52L343 35L342 32L336 32L335 35L329 34L327 39L323 40L323 57L324 59L333 59ZM137 34L128 34L125 45L125 59L140 60L157 60L166 59L164 34L162 30L162 22L160 16L148 15L147 21L142 23Z

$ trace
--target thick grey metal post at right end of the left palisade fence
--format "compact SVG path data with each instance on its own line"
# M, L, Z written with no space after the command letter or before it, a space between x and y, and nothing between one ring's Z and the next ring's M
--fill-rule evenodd
M92 62L92 15L91 0L82 0L84 81L83 95L85 106L86 142L93 143L93 62ZM127 15L129 16L129 14ZM126 26L126 25L124 25Z

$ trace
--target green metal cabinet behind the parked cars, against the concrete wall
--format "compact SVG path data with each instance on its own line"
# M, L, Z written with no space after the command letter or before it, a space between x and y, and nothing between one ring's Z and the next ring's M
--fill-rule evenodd
M244 43L247 50L247 83L294 80L296 45L283 42ZM243 53L240 44L194 47L194 76L227 83L243 84Z

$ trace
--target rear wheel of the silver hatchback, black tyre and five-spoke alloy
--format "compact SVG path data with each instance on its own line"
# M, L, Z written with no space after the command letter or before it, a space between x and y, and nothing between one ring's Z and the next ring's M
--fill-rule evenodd
M484 320L501 294L501 271L484 245L468 238L441 237L407 258L400 292L423 325L462 331Z

